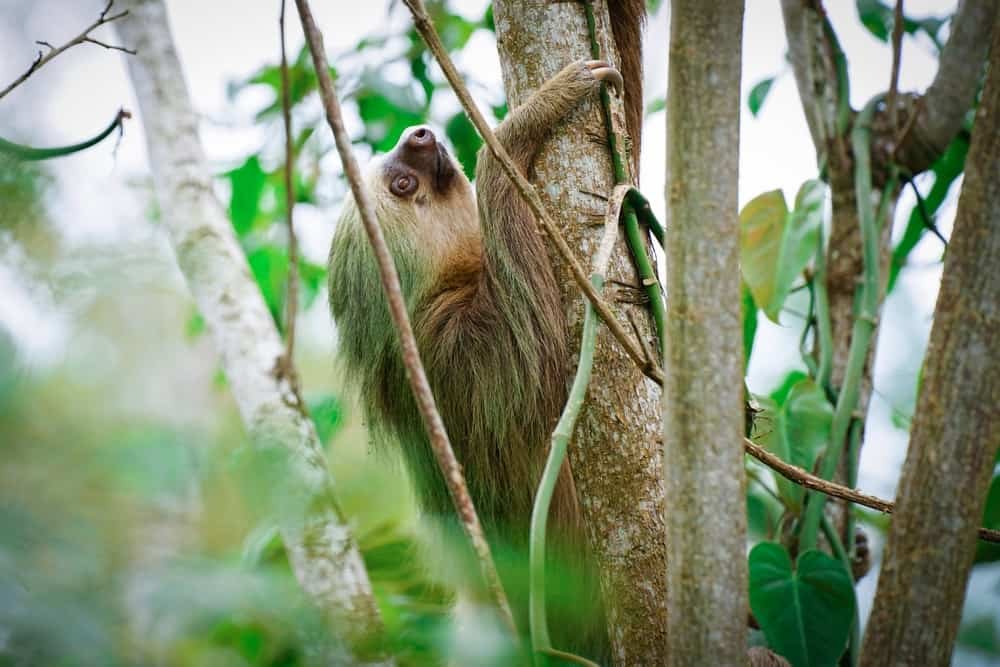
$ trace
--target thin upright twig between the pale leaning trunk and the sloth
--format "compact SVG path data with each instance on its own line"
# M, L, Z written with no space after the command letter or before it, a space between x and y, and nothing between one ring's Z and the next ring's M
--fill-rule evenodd
M292 143L292 104L289 99L288 56L285 49L285 0L281 0L278 15L281 41L281 117L285 126L285 215L288 220L288 286L285 292L285 354L278 360L276 372L288 378L300 411L305 411L299 374L295 370L295 317L299 306L299 243L295 236L293 212L295 191L292 175L295 169L295 146Z

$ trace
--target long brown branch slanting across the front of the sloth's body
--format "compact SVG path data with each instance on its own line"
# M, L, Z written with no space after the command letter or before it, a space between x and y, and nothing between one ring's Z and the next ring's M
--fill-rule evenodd
M406 312L406 303L399 286L399 275L396 273L396 266L385 238L382 235L382 228L375 218L375 206L371 195L368 192L361 178L361 171L358 168L357 160L351 149L351 139L344 129L344 124L340 112L340 103L333 89L333 81L330 79L330 68L326 60L326 51L323 47L323 35L316 26L312 11L309 9L308 0L295 0L299 9L299 17L302 20L302 30L312 52L313 66L319 81L320 98L326 110L326 119L333 130L336 140L337 151L344 166L344 173L351 186L354 201L357 203L358 211L368 240L371 242L372 251L378 262L379 275L382 278L382 287L385 290L386 298L389 302L389 311L392 315L393 324L399 333L400 347L402 348L403 364L406 366L407 376L410 380L410 387L413 389L413 396L416 399L417 407L423 418L424 426L430 437L431 448L437 457L438 465L444 475L448 490L451 492L452 501L458 512L458 518L462 522L466 533L472 542L472 547L479 558L483 577L486 585L492 593L497 607L507 623L511 632L516 636L514 617L507 602L507 595L504 592L500 577L497 574L496 566L493 563L493 556L490 554L489 544L483 534L479 516L472 504L469 490L462 475L462 468L455 458L455 452L448 441L448 434L445 432L444 423L438 413L434 402L434 395L431 393L430 383L427 381L427 374L420 361L420 353L417 350L417 342L413 336L413 328L410 326L410 319Z

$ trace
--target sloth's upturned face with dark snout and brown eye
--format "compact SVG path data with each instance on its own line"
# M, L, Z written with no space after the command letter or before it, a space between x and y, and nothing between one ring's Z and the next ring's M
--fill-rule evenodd
M447 198L455 185L462 185L456 181L465 180L448 149L423 125L403 132L382 162L382 177L394 197L417 204Z

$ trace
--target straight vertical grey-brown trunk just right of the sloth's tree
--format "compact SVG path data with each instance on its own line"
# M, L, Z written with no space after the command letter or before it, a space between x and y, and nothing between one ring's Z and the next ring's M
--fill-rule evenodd
M672 665L746 664L737 182L743 2L674 0L663 441Z

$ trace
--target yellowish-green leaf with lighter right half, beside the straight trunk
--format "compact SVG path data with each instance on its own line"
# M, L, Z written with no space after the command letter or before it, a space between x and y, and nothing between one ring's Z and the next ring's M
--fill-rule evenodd
M816 252L825 186L806 181L789 211L780 190L765 192L740 212L740 263L754 302L778 323L792 283Z

